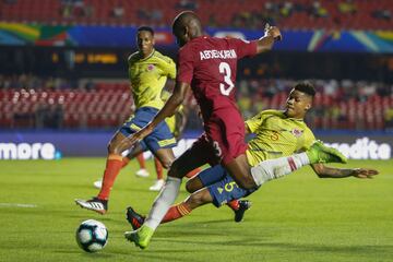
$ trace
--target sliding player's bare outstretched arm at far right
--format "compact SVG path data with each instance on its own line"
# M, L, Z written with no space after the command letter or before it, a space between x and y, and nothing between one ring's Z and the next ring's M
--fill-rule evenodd
M311 167L320 178L372 178L379 174L378 170L370 168L335 168L323 164L313 164Z

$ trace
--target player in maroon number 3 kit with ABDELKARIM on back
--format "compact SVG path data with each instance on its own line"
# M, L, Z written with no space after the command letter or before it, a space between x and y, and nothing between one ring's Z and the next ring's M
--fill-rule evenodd
M190 11L175 17L172 33L180 46L174 93L145 128L123 141L124 148L171 116L190 87L201 108L205 132L170 166L166 184L143 226L124 234L142 249L148 246L154 230L175 202L181 178L192 169L206 163L221 164L241 188L258 186L246 158L245 124L235 100L237 61L272 49L282 37L277 27L269 25L264 36L252 41L205 36L200 19Z

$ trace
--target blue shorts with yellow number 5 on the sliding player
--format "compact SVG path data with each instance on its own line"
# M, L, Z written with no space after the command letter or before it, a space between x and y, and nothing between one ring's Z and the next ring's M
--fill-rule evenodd
M247 196L257 190L245 190L240 188L222 165L207 168L201 171L198 177L200 178L203 187L207 187L207 190L213 198L213 204L216 207L219 207L233 200Z

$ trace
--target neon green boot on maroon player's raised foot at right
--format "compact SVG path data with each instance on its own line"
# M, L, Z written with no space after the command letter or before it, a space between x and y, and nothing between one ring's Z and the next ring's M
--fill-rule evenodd
M333 147L329 147L317 140L306 152L310 159L310 164L315 163L347 163L347 158Z

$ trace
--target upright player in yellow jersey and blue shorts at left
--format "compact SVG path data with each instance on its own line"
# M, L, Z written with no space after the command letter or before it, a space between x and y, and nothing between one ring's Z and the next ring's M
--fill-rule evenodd
M120 169L128 160L127 157L122 157L122 152L131 148L134 157L148 147L165 168L168 168L175 159L171 147L176 145L176 140L165 121L157 122L152 132L132 147L123 147L121 143L126 138L146 126L164 106L160 98L163 87L167 78L175 79L176 76L175 62L154 49L154 31L151 27L138 28L136 45L139 50L128 59L135 114L124 122L109 142L103 187L99 193L87 201L75 200L81 207L99 214L107 212L110 190Z

